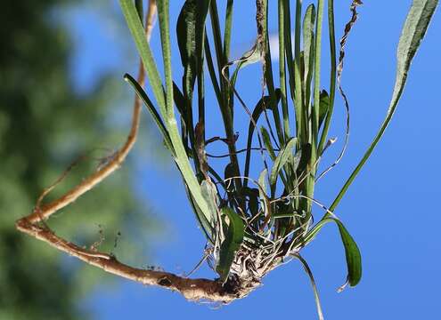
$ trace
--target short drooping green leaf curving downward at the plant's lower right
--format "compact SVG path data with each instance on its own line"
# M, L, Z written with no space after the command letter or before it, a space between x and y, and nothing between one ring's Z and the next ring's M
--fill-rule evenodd
M304 244L311 242L315 236L317 236L323 226L328 222L335 222L339 228L341 241L345 248L346 262L347 262L347 283L351 286L355 286L360 282L362 278L362 255L358 246L356 245L354 238L349 234L347 228L343 223L335 216L331 218L324 218L320 220L314 228L312 228L304 238ZM343 286L342 286L343 288Z

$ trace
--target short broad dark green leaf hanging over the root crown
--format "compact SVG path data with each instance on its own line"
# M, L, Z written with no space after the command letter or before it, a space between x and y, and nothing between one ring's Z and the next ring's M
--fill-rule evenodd
M222 208L221 214L228 217L229 223L225 240L220 246L219 263L217 264L216 271L222 283L225 283L230 274L230 268L233 264L236 252L241 248L245 225L241 217L228 207Z

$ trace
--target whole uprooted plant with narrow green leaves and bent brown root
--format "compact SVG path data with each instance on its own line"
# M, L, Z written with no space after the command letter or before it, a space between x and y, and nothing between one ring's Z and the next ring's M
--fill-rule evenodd
M38 198L34 211L17 221L20 231L35 236L68 252L86 263L143 284L158 285L181 292L188 300L210 300L229 303L249 294L261 284L262 278L289 260L299 260L314 289L319 318L323 318L314 276L301 250L310 244L328 222L337 225L347 260L347 283L355 286L362 276L361 254L354 238L334 214L347 188L371 156L387 128L404 91L412 59L421 44L429 21L437 8L437 0L413 0L404 22L397 48L396 84L387 116L360 163L350 174L330 206L314 198L314 188L326 172L339 163L347 147L349 134L349 103L340 84L345 56L345 44L357 20L354 0L344 35L336 44L333 0L295 2L257 0L250 2L256 12L257 39L240 59L230 57L233 28L233 0L225 0L225 20L220 21L216 0L186 0L182 5L176 33L183 76L174 77L171 68L169 1L149 1L145 18L143 1L119 1L127 26L135 40L142 63L137 80L125 79L136 92L133 123L126 144L96 172L82 180L65 195L43 203L45 196L69 172ZM255 4L253 7L251 4ZM278 12L279 70L273 69L267 30L268 6ZM275 6L277 5L277 6ZM304 10L306 8L306 10ZM305 12L305 13L302 13ZM149 44L154 17L159 20L161 58L164 79ZM327 16L329 34L323 35L323 20ZM208 24L208 20L210 23ZM224 26L224 29L221 29ZM293 38L291 32L293 31ZM323 88L322 50L324 38L329 39L331 53L330 86ZM339 50L338 50L339 47ZM177 52L173 52L174 56ZM241 99L241 68L250 63L261 65L257 81L261 92L256 100ZM280 88L274 77L279 76ZM153 97L143 90L148 79ZM206 116L206 84L216 94L225 132L208 137L205 128L211 121ZM334 100L341 94L347 109L347 132L339 157L329 168L319 164L334 139L329 137ZM255 105L249 107L249 103ZM132 268L111 254L85 249L62 239L45 224L54 212L74 202L101 182L123 163L133 147L139 125L142 104L158 126L164 146L182 175L193 212L207 237L204 259L216 272L214 280L192 279L158 270ZM209 102L210 108L215 105ZM235 132L234 113L249 116L248 131ZM247 137L245 148L239 148L238 137ZM225 156L206 152L209 143L225 146ZM254 146L254 147L253 147ZM245 161L239 155L244 154ZM228 159L220 164L217 157ZM250 170L251 160L261 164L260 172ZM324 211L323 217L316 209Z

